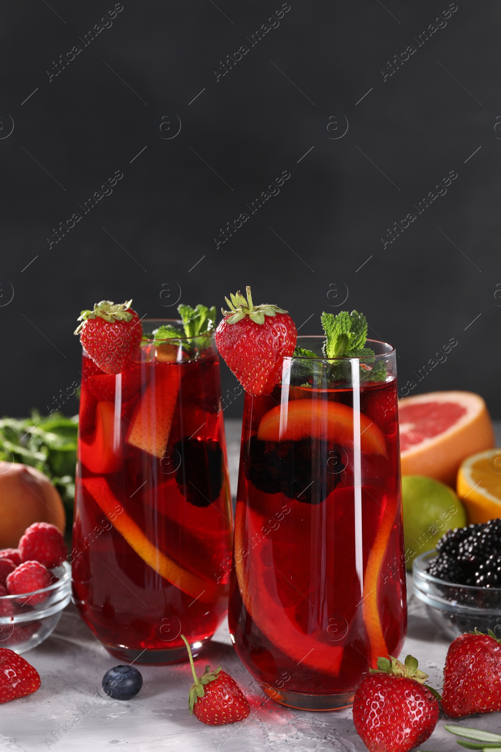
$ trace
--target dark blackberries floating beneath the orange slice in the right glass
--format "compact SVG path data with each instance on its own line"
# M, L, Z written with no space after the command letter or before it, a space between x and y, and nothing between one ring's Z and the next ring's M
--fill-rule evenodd
M259 441L246 445L246 478L259 491L283 493L288 499L321 504L340 482L345 469L334 444L303 438L300 441ZM327 462L324 458L328 457Z

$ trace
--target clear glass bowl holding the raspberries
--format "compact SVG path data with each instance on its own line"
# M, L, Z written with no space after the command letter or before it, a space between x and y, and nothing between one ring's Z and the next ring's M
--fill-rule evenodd
M47 638L61 618L61 612L70 602L71 566L50 569L56 582L35 593L0 596L0 647L15 653L24 653L37 647ZM38 599L45 596L41 603Z

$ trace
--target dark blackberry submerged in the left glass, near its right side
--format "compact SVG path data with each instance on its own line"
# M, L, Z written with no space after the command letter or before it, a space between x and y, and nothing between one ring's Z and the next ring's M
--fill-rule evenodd
M195 507L208 507L216 501L222 486L222 451L213 438L182 438L174 444L181 456L176 473L177 487Z

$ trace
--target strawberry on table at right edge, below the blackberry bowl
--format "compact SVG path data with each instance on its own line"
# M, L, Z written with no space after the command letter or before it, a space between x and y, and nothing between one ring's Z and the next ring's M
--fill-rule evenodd
M501 640L490 630L460 635L449 646L442 709L451 718L501 710Z

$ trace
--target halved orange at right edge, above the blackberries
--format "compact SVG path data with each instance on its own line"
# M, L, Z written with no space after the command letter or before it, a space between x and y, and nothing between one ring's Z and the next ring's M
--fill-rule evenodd
M457 496L469 523L501 517L501 448L472 454L457 473Z

